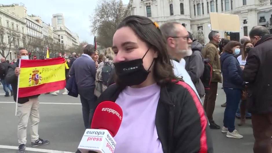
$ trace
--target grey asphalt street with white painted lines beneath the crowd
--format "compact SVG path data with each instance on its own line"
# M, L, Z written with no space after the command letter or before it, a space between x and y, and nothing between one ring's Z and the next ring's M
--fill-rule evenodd
M60 93L62 93L61 91ZM3 86L0 86L0 94L3 94ZM26 153L51 152L65 153L75 152L81 136L84 132L82 112L79 98L73 98L68 95L41 95L40 101L40 124L39 135L42 139L50 140L49 145L31 148L30 132L27 131ZM17 123L15 116L15 103L12 97L0 95L0 153L16 153L12 148L18 147L17 141ZM220 105L225 102L225 93L218 86L218 97L216 99L216 108L214 120L220 126L223 124L224 109ZM239 120L236 120L236 125ZM252 135L251 121L243 127L236 126L243 139L230 139L221 130L211 130L213 146L215 153L251 153L254 143ZM5 145L5 146L4 146ZM46 149L46 150L43 150ZM53 151L54 150L54 151Z

